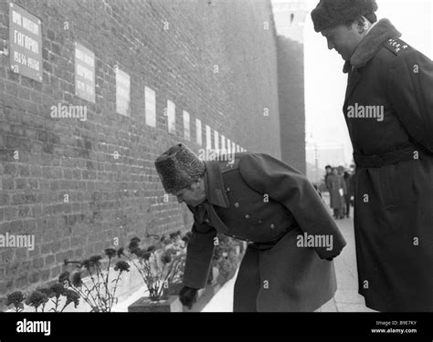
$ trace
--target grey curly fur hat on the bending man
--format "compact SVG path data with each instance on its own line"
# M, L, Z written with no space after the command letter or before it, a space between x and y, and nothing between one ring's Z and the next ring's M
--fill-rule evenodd
M205 163L184 144L166 150L154 162L167 193L188 188L205 173Z

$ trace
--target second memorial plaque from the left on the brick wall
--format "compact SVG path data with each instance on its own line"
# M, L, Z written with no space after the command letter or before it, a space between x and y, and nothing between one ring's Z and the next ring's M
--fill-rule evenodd
M95 54L75 43L75 95L95 103Z

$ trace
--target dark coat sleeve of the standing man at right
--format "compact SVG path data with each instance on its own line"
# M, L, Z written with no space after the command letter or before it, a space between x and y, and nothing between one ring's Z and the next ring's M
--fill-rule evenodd
M387 91L410 137L433 152L433 63L414 49L400 53L388 68Z

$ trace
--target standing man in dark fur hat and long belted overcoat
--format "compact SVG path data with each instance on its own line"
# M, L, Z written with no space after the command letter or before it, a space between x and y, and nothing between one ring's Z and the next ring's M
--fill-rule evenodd
M378 311L433 311L433 64L375 0L322 0L316 32L345 61L359 293Z

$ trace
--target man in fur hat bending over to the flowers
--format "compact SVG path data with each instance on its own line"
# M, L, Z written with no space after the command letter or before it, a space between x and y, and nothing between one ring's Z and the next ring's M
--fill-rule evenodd
M336 290L333 257L344 239L299 171L267 154L201 161L185 145L155 167L165 192L194 213L179 296L191 306L206 286L216 234L248 241L235 285L235 312L314 311Z

